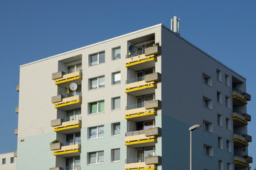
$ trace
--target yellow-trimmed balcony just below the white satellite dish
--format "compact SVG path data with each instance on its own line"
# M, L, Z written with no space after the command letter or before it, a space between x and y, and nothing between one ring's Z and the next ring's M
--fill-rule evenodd
M52 103L55 108L60 108L63 111L69 111L81 107L82 93L65 94L52 97Z

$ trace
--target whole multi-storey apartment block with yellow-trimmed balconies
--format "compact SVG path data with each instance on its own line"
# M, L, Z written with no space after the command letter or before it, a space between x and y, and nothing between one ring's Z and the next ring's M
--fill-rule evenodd
M252 162L245 78L162 24L21 65L17 88L18 170L189 169L195 124L193 169Z

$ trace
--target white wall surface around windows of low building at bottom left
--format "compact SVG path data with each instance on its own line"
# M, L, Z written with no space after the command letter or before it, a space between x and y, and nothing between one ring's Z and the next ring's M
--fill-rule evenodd
M16 170L17 158L14 157L14 163L11 163L11 157L14 157L14 152L0 154L0 169L1 170ZM6 164L2 164L2 159L6 159Z

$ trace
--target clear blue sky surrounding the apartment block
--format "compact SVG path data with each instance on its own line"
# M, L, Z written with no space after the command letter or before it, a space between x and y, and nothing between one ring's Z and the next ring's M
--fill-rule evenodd
M247 79L256 159L256 1L0 1L0 154L16 150L19 65L181 18L181 36ZM3 147L4 146L4 147ZM256 162L256 161L255 161ZM253 167L256 164L251 164Z

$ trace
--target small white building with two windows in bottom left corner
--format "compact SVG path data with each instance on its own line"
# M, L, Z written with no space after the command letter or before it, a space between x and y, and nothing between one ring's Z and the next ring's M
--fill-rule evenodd
M0 170L16 170L16 152L0 154Z

